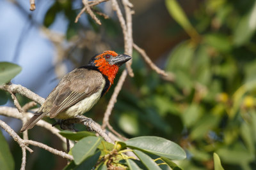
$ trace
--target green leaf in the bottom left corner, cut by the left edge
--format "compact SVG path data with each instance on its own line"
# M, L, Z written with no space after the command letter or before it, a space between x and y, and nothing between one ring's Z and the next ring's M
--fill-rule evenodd
M2 132L0 131L0 169L14 169L14 160L8 143L6 142Z

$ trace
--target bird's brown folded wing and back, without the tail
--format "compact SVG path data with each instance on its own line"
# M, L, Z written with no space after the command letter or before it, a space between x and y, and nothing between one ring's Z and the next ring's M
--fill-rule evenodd
M60 85L62 84L63 87L56 87L56 92L53 94L56 97L45 101L52 103L51 110L49 110L50 118L56 117L70 106L103 89L102 84L105 83L105 80L99 71L81 68L72 72L75 74L67 74L61 80Z

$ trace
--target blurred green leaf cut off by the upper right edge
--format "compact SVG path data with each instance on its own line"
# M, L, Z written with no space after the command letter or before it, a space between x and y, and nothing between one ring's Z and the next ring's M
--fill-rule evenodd
M256 30L256 1L252 7L252 10L244 15L237 27L234 29L234 44L237 46L241 46L244 43L248 42Z

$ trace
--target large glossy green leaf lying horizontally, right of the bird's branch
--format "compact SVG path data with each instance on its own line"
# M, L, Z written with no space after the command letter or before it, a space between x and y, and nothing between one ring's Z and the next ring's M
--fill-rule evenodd
M157 136L140 136L131 138L124 143L129 148L136 148L168 159L182 160L186 158L186 153L179 145Z

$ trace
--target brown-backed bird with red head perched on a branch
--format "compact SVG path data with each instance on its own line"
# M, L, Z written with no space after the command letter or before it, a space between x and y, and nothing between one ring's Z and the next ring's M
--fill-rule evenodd
M20 132L33 128L44 117L67 120L89 111L113 85L119 67L131 58L108 50L65 74Z

